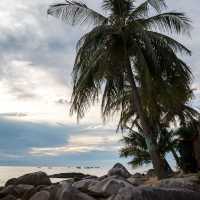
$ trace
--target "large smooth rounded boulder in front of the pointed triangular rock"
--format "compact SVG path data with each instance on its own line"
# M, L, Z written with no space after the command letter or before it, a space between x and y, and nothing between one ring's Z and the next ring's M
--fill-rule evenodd
M123 178L108 177L88 188L95 197L109 197L116 194L123 187L133 187Z

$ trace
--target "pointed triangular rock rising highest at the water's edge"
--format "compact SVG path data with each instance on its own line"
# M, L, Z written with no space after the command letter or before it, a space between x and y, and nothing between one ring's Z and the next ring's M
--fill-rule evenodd
M120 163L115 164L114 167L111 170L109 170L108 176L113 175L121 176L124 178L129 178L131 176L128 170Z

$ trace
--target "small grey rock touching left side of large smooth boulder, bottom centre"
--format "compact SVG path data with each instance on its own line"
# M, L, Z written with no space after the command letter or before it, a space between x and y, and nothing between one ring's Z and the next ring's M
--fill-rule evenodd
M73 187L77 188L78 190L82 192L88 191L88 188L92 185L97 184L99 181L96 179L84 179L78 182L73 183Z

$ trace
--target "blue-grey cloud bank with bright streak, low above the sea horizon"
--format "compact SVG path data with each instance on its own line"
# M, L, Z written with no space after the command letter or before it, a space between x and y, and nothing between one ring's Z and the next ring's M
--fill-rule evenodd
M5 116L0 116L0 165L36 164L47 161L47 158L51 160L51 165L59 165L62 162L56 163L57 160L66 158L66 161L77 162L81 155L82 161L92 161L96 159L91 156L93 153L104 155L104 159L113 158L114 155L118 157L121 135L116 135L113 129L108 131L99 127L94 130L87 125L31 123ZM11 116L15 117L15 113Z

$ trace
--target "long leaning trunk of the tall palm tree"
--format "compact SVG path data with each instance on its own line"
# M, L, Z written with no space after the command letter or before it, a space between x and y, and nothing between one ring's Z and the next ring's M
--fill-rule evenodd
M142 129L144 131L144 136L146 139L149 154L152 159L153 167L156 170L156 173L159 179L165 178L168 176L168 173L165 170L165 161L163 157L160 155L159 150L157 149L157 145L152 137L152 131L151 131L151 128L149 127L148 120L142 108L141 99L139 96L138 88L135 83L130 62L127 65L127 73L128 73L128 79L132 88L134 107L136 108L138 116L141 121Z

